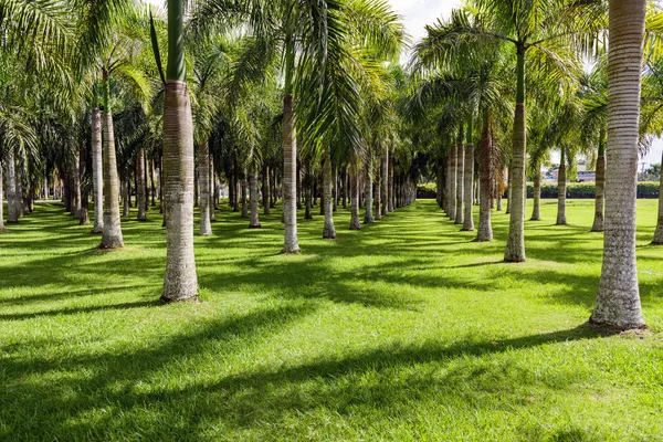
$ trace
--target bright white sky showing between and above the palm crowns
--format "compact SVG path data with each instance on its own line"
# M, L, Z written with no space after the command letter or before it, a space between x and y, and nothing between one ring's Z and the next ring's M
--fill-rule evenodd
M148 1L158 6L164 4L164 0ZM425 24L433 23L441 17L449 17L451 10L461 4L461 0L389 0L389 2L401 15L412 42L424 35ZM663 139L657 139L640 161L646 165L659 164L662 151ZM555 161L555 156L552 160Z

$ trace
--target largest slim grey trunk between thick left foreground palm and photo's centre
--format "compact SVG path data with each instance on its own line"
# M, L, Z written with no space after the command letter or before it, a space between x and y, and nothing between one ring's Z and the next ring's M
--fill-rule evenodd
M285 238L281 253L298 253L297 240L297 141L293 94L283 98L283 221Z

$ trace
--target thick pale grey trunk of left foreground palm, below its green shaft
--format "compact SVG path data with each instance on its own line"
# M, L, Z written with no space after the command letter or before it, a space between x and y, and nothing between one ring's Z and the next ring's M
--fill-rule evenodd
M193 122L187 83L169 80L164 98L166 303L198 298L193 254Z

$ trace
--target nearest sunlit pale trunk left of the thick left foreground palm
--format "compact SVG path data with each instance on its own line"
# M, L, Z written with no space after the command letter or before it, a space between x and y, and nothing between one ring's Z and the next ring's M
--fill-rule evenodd
M104 112L104 232L101 249L117 249L124 246L122 227L119 223L119 180L117 178L117 161L115 158L115 134L113 131L113 113Z

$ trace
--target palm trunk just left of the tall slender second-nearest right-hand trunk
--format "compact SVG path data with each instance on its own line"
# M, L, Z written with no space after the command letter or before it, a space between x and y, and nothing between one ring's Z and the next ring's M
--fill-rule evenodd
M485 112L484 127L478 147L478 176L481 181L481 198L478 199L478 229L476 241L493 240L493 224L491 221L491 193L493 191L493 122Z

